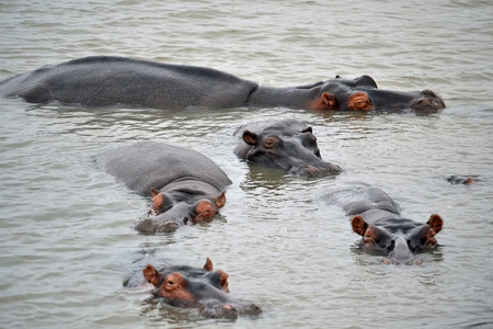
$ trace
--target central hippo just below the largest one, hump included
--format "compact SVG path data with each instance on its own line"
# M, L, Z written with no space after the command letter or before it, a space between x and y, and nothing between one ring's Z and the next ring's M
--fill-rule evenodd
M341 172L339 166L322 160L312 128L299 120L250 123L239 127L233 136L238 138L234 155L251 163L305 177Z

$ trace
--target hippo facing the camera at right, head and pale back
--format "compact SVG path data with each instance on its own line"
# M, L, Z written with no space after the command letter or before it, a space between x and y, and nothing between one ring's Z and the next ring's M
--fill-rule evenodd
M431 215L425 224L402 217L399 205L378 188L339 191L326 200L354 216L351 224L353 231L363 237L359 245L380 251L387 264L421 264L416 253L437 245L435 235L444 225L437 214Z

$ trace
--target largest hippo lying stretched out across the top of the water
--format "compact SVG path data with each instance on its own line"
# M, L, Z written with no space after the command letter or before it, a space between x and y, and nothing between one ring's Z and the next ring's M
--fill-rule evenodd
M0 82L0 95L31 103L58 101L83 106L124 104L152 109L286 106L330 111L445 109L431 90L380 90L369 76L273 88L219 70L114 56L91 56L43 66Z

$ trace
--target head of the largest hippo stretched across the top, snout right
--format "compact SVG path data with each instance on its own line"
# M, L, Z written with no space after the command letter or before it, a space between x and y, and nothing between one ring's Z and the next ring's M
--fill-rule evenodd
M403 111L436 113L445 109L444 101L431 90L401 92L380 90L369 76L353 80L335 79L320 82L320 98L313 101L314 110L334 111Z

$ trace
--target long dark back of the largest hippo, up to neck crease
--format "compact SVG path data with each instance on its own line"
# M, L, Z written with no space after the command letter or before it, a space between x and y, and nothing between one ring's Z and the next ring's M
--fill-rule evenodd
M95 56L12 77L1 82L0 94L85 106L228 107L246 104L256 86L209 68Z

